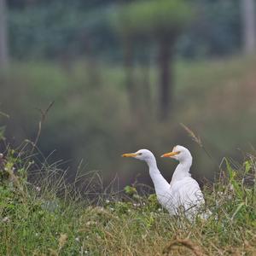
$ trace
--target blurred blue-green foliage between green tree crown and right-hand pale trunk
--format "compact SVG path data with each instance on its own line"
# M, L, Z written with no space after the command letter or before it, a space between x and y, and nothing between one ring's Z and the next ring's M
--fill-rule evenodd
M198 59L241 51L241 0L194 0L193 5L196 17L178 39L177 55Z

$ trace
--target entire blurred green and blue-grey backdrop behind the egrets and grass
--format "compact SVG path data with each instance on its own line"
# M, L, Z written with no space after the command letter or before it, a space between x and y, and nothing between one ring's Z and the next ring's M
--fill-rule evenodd
M178 143L195 157L194 176L214 177L224 155L256 143L256 58L243 54L241 1L5 1L7 142L33 141L38 108L55 101L38 147L70 172L84 159L106 183L116 173L121 186L150 183L143 163L120 154L148 148L158 158ZM176 163L159 163L170 179Z

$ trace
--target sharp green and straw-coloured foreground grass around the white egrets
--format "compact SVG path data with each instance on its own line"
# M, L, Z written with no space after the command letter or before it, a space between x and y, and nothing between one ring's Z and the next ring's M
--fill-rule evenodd
M195 223L170 217L154 195L139 195L135 187L95 195L96 177L78 176L68 184L57 163L42 164L27 155L8 149L1 160L1 255L255 253L253 155L240 166L224 161L221 177L204 189L212 217Z

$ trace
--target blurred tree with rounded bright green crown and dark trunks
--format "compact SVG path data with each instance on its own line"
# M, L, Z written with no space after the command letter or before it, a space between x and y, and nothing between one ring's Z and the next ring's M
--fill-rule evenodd
M160 119L166 119L171 112L172 103L172 61L173 47L178 35L192 18L191 7L182 0L138 1L125 4L119 12L116 27L123 38L126 49L125 62L127 70L131 70L131 45L136 39L147 44L148 39L156 41L159 46ZM131 77L131 71L128 77ZM136 96L131 78L127 79L131 103Z

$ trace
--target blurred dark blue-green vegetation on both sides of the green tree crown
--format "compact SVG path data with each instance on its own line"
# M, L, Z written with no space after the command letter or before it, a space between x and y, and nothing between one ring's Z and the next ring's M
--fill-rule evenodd
M93 54L119 61L119 38L108 15L132 1L8 1L9 49L15 59L66 58ZM133 1L136 2L136 1ZM189 1L188 1L189 2ZM177 54L198 58L241 49L240 1L196 0L195 22L183 32ZM147 55L137 53L138 58Z

